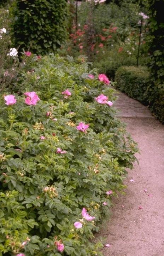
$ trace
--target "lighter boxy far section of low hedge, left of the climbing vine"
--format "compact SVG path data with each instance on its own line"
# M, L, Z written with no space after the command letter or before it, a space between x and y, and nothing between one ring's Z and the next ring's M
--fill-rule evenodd
M150 74L145 66L121 66L116 71L115 87L133 99L148 104Z

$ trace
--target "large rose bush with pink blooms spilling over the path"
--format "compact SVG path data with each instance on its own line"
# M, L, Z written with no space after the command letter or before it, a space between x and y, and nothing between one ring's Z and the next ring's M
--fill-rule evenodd
M115 101L115 90L96 70L88 77L84 57L31 54L24 65L9 105L0 98L0 253L102 255L90 241L138 151L116 110L95 100Z

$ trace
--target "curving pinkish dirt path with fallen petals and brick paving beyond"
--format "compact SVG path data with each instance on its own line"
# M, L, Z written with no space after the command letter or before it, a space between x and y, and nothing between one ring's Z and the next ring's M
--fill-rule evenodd
M112 216L99 233L111 245L102 252L105 256L164 256L164 126L147 107L123 93L115 106L121 109L121 120L128 124L141 154L136 155L139 165L134 164L125 181L127 195L113 200Z

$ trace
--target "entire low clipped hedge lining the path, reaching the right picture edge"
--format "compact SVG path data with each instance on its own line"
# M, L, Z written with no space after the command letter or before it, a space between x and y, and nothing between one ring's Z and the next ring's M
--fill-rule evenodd
M121 66L116 71L115 82L121 92L149 105L157 119L164 123L164 89L153 85L145 66Z

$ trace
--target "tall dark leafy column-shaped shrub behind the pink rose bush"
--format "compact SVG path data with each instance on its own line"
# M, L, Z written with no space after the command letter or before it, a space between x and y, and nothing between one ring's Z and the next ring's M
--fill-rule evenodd
M68 8L65 0L14 0L13 45L33 53L54 52L67 37Z

